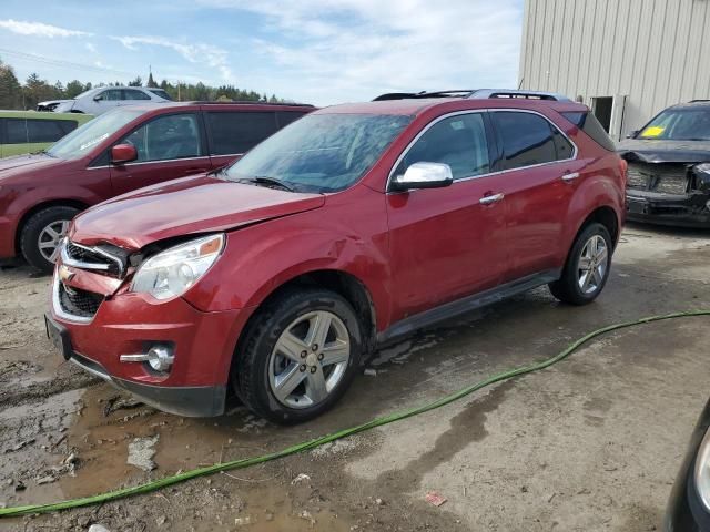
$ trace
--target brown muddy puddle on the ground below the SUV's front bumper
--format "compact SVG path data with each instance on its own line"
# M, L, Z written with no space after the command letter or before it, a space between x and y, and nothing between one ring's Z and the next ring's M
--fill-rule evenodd
M284 437L285 429L255 419L244 408L214 419L180 418L138 403L105 383L87 389L78 405L67 442L80 457L80 468L74 477L64 475L57 483L64 498L260 456L297 440L293 433ZM128 463L129 446L142 439L154 442L152 471ZM182 519L190 519L190 530L214 530L216 524L251 531L349 531L349 522L329 508L310 478L294 482L298 474L284 461L276 461L187 481L134 501L154 504L150 513L155 523L172 523L176 530L182 530ZM33 493L33 502L44 500L39 495Z

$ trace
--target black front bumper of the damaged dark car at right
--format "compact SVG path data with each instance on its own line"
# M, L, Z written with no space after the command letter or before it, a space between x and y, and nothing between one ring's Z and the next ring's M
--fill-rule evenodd
M710 194L667 194L627 190L627 219L661 225L710 227Z

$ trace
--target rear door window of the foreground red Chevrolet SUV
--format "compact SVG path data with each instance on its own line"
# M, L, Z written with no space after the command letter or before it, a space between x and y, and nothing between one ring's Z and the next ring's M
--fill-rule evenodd
M490 116L503 143L503 170L571 157L571 144L542 116L508 111L493 112Z

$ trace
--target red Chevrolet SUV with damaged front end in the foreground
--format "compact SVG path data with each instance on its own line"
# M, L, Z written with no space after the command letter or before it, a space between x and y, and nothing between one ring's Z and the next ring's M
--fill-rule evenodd
M381 342L545 284L587 304L626 166L586 106L535 98L328 108L221 172L91 208L62 245L49 336L162 410L220 415L232 389L298 422Z

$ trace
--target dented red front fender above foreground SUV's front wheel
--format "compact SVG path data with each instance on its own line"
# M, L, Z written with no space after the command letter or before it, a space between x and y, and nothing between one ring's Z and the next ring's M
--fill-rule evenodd
M390 294L384 195L361 191L374 201L329 201L313 212L229 233L223 256L184 297L209 311L256 307L301 275L337 270L365 286L383 328Z

